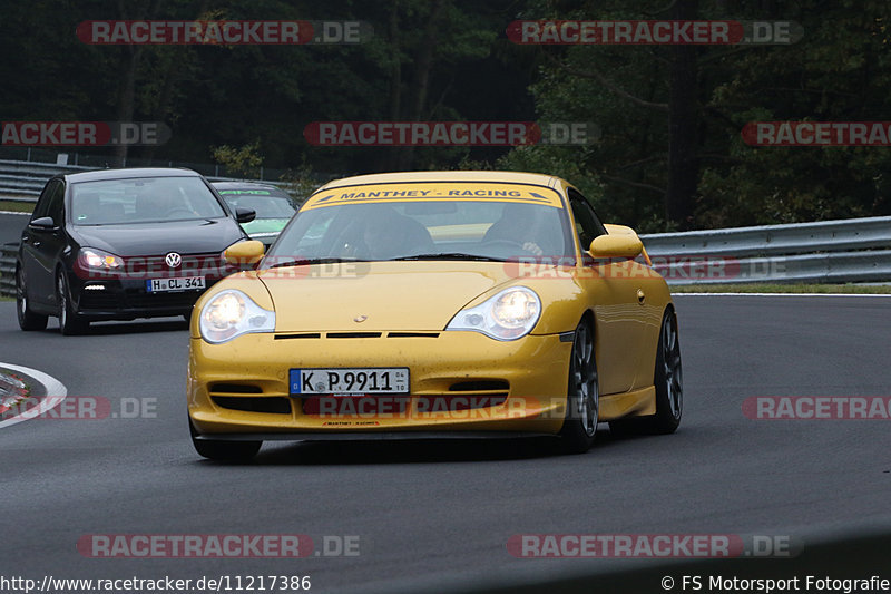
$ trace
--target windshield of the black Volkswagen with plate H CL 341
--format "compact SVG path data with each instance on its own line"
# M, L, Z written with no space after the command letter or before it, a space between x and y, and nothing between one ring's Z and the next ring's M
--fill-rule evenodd
M119 225L226 216L198 177L134 177L71 186L76 225Z

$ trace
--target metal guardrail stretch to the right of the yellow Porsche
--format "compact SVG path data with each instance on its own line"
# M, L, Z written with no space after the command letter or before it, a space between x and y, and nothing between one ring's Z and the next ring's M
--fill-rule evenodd
M891 281L891 216L642 235L669 284Z

